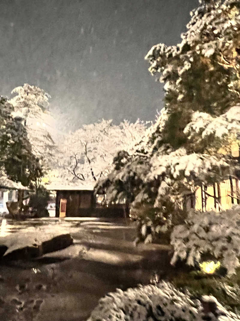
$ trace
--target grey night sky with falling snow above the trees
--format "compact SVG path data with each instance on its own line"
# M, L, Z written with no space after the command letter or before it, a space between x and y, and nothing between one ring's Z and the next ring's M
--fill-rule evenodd
M25 82L47 91L74 126L151 120L161 84L144 56L174 45L197 0L0 0L1 94ZM68 120L69 121L69 120ZM70 124L69 124L70 125Z

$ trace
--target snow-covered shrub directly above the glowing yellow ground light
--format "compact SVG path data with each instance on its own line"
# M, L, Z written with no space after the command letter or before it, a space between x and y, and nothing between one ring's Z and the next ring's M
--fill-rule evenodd
M240 266L240 206L226 212L191 211L185 224L174 227L171 244L174 254L171 263L178 258L194 266L209 254L227 268L228 276Z

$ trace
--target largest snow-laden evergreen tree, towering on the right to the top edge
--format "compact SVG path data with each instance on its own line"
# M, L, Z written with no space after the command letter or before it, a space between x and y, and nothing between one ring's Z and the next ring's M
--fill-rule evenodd
M220 147L236 141L240 129L240 1L199 2L181 43L158 44L145 58L164 82L157 122L133 155L119 153L98 184L108 199L125 195L133 205L152 204L160 217L181 213L197 186L238 172Z

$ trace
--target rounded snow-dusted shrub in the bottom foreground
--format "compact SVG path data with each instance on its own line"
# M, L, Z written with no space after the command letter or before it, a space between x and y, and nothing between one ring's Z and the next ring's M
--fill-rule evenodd
M127 291L117 289L100 299L88 321L240 320L214 297L204 296L201 301L165 282Z

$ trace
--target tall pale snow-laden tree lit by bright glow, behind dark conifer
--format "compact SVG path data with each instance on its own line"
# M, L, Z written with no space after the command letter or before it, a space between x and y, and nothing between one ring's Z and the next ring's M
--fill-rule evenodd
M8 100L8 103L12 106L12 119L14 119L15 123L19 124L22 130L21 133L18 133L18 139L20 141L25 140L25 145L28 143L29 150L31 151L29 155L32 155L35 160L33 168L30 168L30 165L28 165L31 177L25 186L34 191L34 195L31 193L31 200L34 198L35 204L32 208L34 211L41 211L43 213L40 204L42 198L40 197L41 200L36 202L38 195L44 189L40 184L44 174L58 163L56 157L58 152L57 146L50 133L52 122L52 116L48 110L48 98L50 96L44 90L27 83L13 89L12 94L16 95ZM12 168L10 164L9 168ZM44 193L44 195L47 195L46 191ZM19 191L18 195L19 199L22 199L23 191Z

